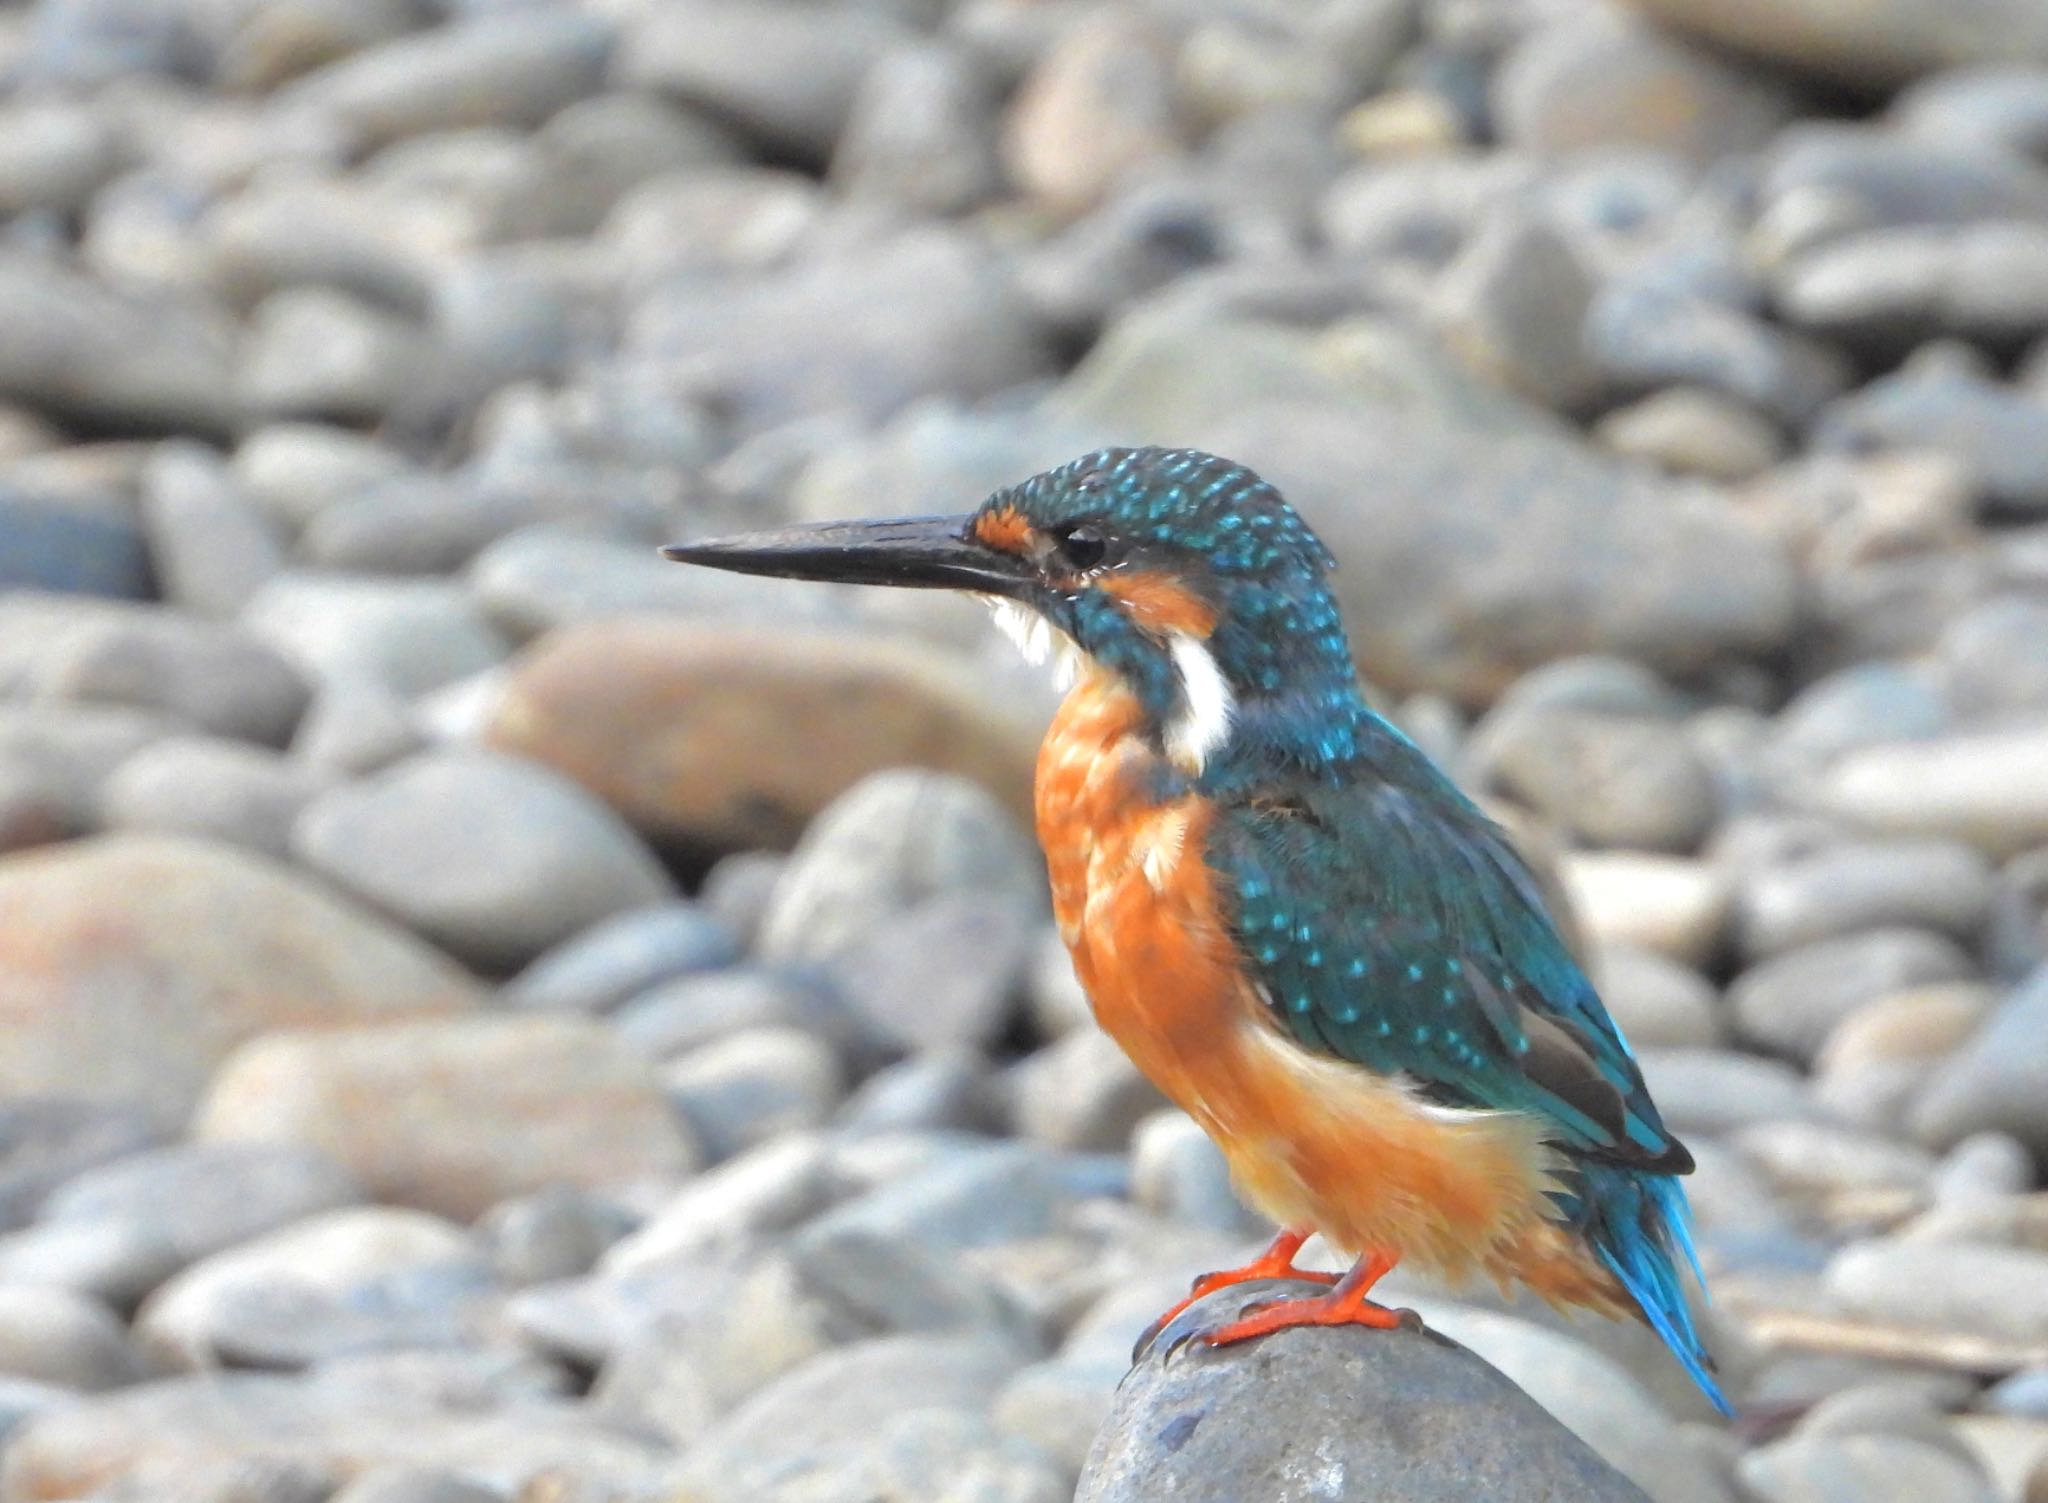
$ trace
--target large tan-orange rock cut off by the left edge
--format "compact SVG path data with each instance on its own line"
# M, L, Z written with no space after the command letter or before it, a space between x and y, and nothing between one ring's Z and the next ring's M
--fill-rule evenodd
M90 1093L176 1124L268 1028L463 1012L410 936L221 846L109 835L0 862L0 1093Z

